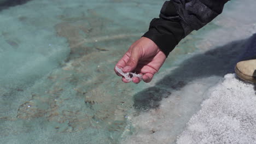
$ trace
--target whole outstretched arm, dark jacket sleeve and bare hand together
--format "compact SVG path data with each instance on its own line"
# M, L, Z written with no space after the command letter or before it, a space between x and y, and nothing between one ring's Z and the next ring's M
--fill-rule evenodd
M150 22L149 30L133 43L115 65L124 73L142 74L150 82L174 47L191 31L198 30L222 13L229 0L172 0L162 6L158 19ZM121 76L116 70L115 72ZM124 82L128 82L124 79ZM133 77L132 81L141 80Z

